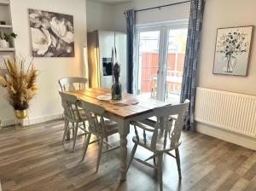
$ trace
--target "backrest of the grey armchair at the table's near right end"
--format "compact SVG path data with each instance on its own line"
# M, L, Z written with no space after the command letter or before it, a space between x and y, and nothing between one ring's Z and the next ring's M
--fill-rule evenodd
M179 138L183 130L184 119L188 108L189 100L181 104L154 109L154 116L157 117L157 122L153 130L153 136L151 137L151 148L156 149L159 139L163 139L163 145L160 146L162 147L161 150L176 148L179 145ZM144 142L147 141L146 131L147 130L143 130ZM167 142L170 143L169 146L166 145ZM159 145L157 149L159 149Z

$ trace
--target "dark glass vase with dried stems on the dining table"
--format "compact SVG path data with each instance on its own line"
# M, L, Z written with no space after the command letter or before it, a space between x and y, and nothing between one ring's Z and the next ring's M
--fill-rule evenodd
M112 100L119 101L122 99L122 84L119 83L120 66L116 62L113 66L113 78L114 82L111 88Z

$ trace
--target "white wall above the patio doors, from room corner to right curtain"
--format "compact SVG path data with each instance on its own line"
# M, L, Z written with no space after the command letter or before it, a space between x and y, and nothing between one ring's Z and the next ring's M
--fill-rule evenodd
M125 10L147 9L160 5L183 2L182 0L136 0L131 3L122 3L114 6L114 29L119 32L126 31ZM164 22L170 20L183 20L189 18L190 3L183 3L161 9L151 9L137 12L137 24Z

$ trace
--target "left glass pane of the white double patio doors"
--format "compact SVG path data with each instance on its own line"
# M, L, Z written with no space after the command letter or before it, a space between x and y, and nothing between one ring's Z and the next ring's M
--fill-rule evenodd
M156 99L160 32L139 33L138 94Z

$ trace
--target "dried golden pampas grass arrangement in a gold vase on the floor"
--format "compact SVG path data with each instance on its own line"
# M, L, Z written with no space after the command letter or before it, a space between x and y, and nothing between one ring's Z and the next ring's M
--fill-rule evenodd
M7 100L14 107L17 119L25 119L29 102L37 91L38 71L32 61L25 67L26 61L4 61L7 72L0 72L0 86L7 90Z

